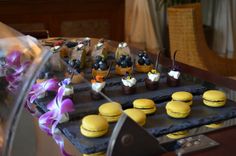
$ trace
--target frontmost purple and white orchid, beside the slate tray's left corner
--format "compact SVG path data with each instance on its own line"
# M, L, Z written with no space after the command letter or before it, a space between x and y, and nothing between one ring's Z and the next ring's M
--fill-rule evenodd
M61 86L58 89L57 96L47 105L49 110L39 118L39 127L51 135L55 142L59 145L62 155L69 156L64 150L64 140L57 130L57 125L61 122L63 116L74 110L71 99L63 99L65 88Z

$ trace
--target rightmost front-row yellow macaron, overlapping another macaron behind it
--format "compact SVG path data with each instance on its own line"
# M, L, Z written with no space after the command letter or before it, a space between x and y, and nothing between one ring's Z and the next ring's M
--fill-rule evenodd
M170 101L166 104L166 112L173 118L186 118L191 111L189 104L180 101Z

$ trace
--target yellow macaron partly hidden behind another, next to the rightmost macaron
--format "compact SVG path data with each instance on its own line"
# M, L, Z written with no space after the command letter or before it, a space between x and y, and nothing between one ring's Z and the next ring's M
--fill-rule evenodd
M193 95L189 92L185 91L175 92L172 94L171 97L173 101L181 101L189 105L192 105L193 103Z

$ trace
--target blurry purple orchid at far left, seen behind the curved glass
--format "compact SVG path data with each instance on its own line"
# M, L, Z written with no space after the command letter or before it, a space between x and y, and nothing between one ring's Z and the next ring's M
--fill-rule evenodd
M12 72L6 76L8 81L8 89L11 92L15 92L18 88L21 80L23 79L23 73L30 66L30 61L21 63L22 53L19 51L13 51L6 57L5 68L11 69Z

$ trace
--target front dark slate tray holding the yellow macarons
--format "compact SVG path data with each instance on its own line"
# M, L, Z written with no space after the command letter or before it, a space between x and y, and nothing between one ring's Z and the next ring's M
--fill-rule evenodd
M228 100L222 108L210 108L202 103L201 96L194 96L191 114L185 119L173 119L166 114L167 102L157 103L157 112L147 117L144 128L155 137L219 122L236 117L236 104ZM59 126L64 135L82 153L95 153L105 151L115 123L109 125L109 132L100 138L86 138L80 133L81 120L63 123Z

